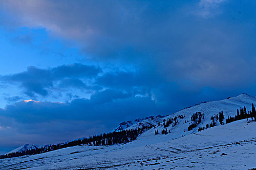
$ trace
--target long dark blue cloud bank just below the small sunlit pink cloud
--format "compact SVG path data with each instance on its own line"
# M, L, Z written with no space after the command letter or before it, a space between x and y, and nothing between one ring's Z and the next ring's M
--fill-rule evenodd
M145 108L145 104L148 105ZM140 113L154 111L150 97L134 97L129 93L106 89L93 94L90 99L80 98L69 103L17 102L1 109L1 115L23 123L43 122L59 119L103 121L107 117L121 121ZM111 120L112 121L112 120Z

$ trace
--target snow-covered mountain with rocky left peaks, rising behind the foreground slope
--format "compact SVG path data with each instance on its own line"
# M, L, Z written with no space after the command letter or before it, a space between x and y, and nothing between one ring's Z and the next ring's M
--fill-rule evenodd
M173 119L177 117L178 122L174 127L172 127L172 123L168 126L167 130L171 131L172 136L181 136L181 135L188 135L194 132L197 132L199 127L204 127L206 124L212 122L211 117L214 115L218 115L219 112L223 111L224 115L224 122L228 116L234 117L236 115L236 109L240 110L240 107L246 107L247 111L252 109L252 103L256 103L256 98L250 96L246 93L240 94L236 97L231 97L228 99L224 99L221 101L211 101L211 102L201 102L199 104L195 104L194 106L190 106L184 108L176 113L172 113L166 117L164 116L156 116L156 117L149 117L145 119L136 119L137 121L127 121L120 123L113 131L125 130L125 129L135 129L142 126L156 126L156 129L161 132L165 127L163 123L166 123L166 120ZM188 132L188 126L192 124L191 116L193 113L201 112L204 114L204 119L197 125L196 128L193 128L192 131ZM179 115L184 116L185 118L180 119ZM164 121L165 120L165 121ZM217 123L216 125L220 125L217 119L214 119ZM160 126L158 126L160 122ZM185 132L184 132L185 131ZM175 135L174 135L175 134ZM143 134L142 134L143 136Z

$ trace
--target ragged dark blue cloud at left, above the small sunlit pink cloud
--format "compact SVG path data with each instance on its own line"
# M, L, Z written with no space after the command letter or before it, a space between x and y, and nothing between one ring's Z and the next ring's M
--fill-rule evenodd
M85 88L86 85L79 78L93 78L102 70L95 66L86 66L75 63L72 65L62 65L55 68L36 68L30 66L27 71L21 73L4 75L0 77L3 83L20 83L30 97L35 94L48 95L48 88L53 87L53 83L61 81L62 87Z

